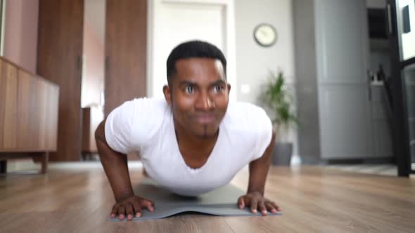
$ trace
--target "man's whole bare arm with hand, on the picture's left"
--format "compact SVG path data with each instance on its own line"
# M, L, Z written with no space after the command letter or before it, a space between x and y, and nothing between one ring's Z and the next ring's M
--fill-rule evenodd
M123 219L124 215L127 214L128 219L132 219L132 214L134 213L136 217L139 217L142 207L147 207L149 211L153 211L152 201L135 196L129 178L127 155L115 152L110 148L106 141L105 124L106 119L96 129L95 140L101 164L110 181L116 201L111 211L111 217L119 215L119 218ZM127 202L127 204L124 202Z

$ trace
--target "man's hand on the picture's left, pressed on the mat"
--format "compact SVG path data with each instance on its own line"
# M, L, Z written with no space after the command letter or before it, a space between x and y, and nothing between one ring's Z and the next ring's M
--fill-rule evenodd
M114 204L110 216L115 218L118 215L118 219L123 220L127 215L127 220L132 220L134 215L136 218L141 217L142 208L147 208L148 211L153 212L154 202L138 196L127 197Z

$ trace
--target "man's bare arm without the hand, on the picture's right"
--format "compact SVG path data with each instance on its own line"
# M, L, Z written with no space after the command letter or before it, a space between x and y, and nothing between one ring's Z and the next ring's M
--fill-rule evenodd
M249 192L260 192L264 195L265 181L269 166L271 165L272 152L274 150L275 133L272 133L272 140L260 159L249 164Z

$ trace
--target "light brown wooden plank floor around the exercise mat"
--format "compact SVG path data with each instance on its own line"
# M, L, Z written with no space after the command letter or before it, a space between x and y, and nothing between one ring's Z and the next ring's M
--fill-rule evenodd
M0 177L0 232L415 232L414 177L274 167L266 194L281 216L108 222L113 194L102 168L72 168ZM133 168L133 183L142 178ZM232 183L245 189L247 178L242 171Z

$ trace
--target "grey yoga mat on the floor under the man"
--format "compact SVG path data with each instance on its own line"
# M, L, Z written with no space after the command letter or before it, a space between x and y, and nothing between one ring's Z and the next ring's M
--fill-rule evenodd
M134 189L134 192L155 202L153 212L143 210L141 218L134 217L134 221L167 218L184 212L219 216L261 215L261 213L251 213L249 208L242 210L238 208L236 201L245 192L234 187L234 185L226 185L198 197L181 197L169 192L167 189L158 187L153 180L146 179ZM268 215L281 215L281 213L268 212ZM118 218L110 218L110 221L117 222L120 220Z

